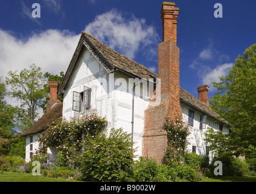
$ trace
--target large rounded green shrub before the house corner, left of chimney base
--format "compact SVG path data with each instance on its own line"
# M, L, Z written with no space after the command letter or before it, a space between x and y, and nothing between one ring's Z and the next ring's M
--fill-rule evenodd
M132 174L133 152L130 135L123 129L87 137L81 155L84 181L126 181Z

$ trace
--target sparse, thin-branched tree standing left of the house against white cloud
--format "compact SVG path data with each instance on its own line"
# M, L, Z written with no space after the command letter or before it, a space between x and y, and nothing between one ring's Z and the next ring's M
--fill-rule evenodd
M27 125L34 124L38 116L39 105L47 95L47 91L43 87L45 79L41 68L33 64L30 65L29 70L23 69L19 73L17 70L10 71L6 83L12 87L10 95L21 102L20 115L23 115L22 119L25 122L30 122Z

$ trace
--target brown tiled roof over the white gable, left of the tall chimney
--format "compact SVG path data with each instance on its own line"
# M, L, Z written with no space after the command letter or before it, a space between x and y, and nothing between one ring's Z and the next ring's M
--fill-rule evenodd
M73 68L75 67L76 60L78 59L79 53L83 47L87 47L90 52L95 56L101 65L107 70L108 73L122 70L123 72L129 73L137 78L157 78L157 74L150 71L144 65L127 58L124 55L116 52L113 49L107 47L107 45L98 41L93 36L86 32L82 32L75 53L73 54L72 60L70 61L67 72L65 73L64 79L59 87L58 94L61 95L66 87L67 81L71 75Z

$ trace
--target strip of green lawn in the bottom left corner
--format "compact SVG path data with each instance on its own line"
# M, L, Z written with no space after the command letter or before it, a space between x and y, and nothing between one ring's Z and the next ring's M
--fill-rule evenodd
M0 172L0 182L76 182L73 179L34 176L31 173Z

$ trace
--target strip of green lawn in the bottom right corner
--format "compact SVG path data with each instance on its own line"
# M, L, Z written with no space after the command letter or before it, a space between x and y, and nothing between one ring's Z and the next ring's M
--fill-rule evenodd
M256 182L256 176L216 176L204 178L201 182Z

